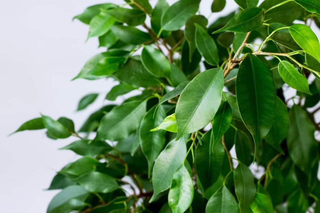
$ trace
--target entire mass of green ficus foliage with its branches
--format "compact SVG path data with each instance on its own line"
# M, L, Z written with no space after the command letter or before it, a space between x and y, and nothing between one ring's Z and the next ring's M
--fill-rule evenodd
M79 130L41 115L16 131L76 138L62 149L79 159L53 178L49 190L61 191L48 213L320 212L319 108L310 109L320 45L308 26L320 27L320 3L234 1L239 9L212 23L200 0L125 0L75 17L105 51L74 79L119 82L108 103L139 94L97 109ZM214 0L212 15L225 4Z

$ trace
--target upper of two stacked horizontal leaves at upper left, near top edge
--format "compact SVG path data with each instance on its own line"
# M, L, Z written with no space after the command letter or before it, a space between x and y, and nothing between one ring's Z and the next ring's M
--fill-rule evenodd
M116 7L106 11L115 20L126 23L129 26L138 26L146 20L146 14L141 10L132 10L123 7Z

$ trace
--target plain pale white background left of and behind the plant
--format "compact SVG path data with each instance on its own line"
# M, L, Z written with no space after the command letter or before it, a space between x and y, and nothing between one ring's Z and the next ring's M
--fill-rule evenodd
M106 0L123 4L122 0ZM170 4L173 0L168 1ZM98 50L96 38L85 43L88 26L71 21L93 4L91 0L10 0L0 7L0 206L3 213L42 213L58 191L44 191L56 171L76 155L57 150L76 140L50 140L44 131L26 131L7 137L23 122L39 113L54 119L71 118L76 129L87 115L106 101L111 81L70 81ZM150 3L155 4L155 0ZM200 11L208 17L212 0L202 0ZM226 8L210 21L237 8ZM210 22L209 21L209 22ZM85 94L100 92L95 104L75 112ZM118 102L121 99L117 100Z

